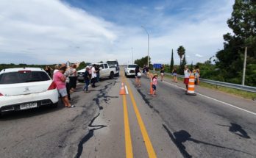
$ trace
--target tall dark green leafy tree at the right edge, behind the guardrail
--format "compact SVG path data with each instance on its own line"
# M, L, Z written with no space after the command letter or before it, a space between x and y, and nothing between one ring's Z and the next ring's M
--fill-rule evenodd
M216 66L225 82L241 84L245 47L248 47L247 65L256 63L256 1L235 0L232 16L227 20L227 24L233 35L227 33L223 36L224 49L216 53ZM251 69L246 73L251 74L249 71ZM247 79L246 76L247 85L256 85L254 80Z

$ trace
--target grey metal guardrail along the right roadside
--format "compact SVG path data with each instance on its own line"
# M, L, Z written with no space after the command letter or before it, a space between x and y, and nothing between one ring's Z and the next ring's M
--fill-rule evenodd
M159 71L157 71L157 73L159 73ZM165 73L165 74L172 76L172 73ZM184 78L183 75L177 75L177 77ZM200 78L200 82L205 82L205 83L208 83L211 85L217 85L217 86L221 86L221 87L230 87L230 88L237 89L237 90L244 90L247 92L256 93L256 87L252 87L252 86L238 85L238 84L233 84L233 83L228 83L228 82L219 82L219 81L214 81L214 80L210 80L210 79L201 79L201 78Z

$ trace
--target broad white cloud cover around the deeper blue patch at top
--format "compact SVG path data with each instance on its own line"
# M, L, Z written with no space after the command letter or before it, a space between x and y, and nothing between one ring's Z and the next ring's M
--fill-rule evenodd
M147 7L143 8L146 12ZM99 62L110 58L131 62L132 47L134 60L147 55L147 35L141 25L150 34L153 63L169 63L174 49L174 64L179 64L177 48L181 45L188 63L204 62L222 48L222 35L230 31L226 21L231 9L227 2L184 17L152 13L149 24L118 26L56 0L5 0L0 4L0 62Z

